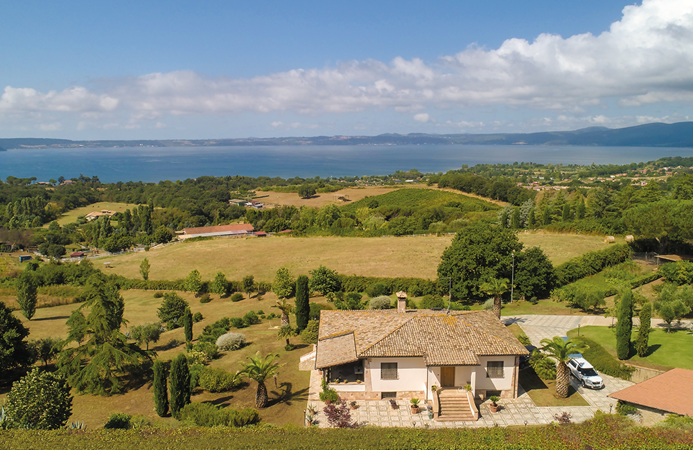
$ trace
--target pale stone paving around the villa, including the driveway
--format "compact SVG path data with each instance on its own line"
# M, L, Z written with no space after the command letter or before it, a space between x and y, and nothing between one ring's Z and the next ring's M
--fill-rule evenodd
M611 325L611 318L598 316L511 316L503 317L506 323L517 323L525 331L534 345L538 346L541 339L552 338L553 336L565 336L568 330L577 328L577 325ZM653 321L653 327L661 326L659 321ZM358 424L372 426L417 426L424 428L450 428L450 427L470 427L478 428L484 426L511 426L511 425L536 425L549 424L555 421L554 415L568 412L572 415L572 422L582 422L592 418L595 411L601 410L605 413L611 411L615 400L606 397L610 393L632 386L631 381L609 377L603 375L604 388L602 390L592 390L583 388L577 380L571 377L570 383L584 397L590 406L566 406L566 407L538 407L529 398L529 395L520 386L518 398L502 399L498 413L491 413L489 401L486 400L477 404L480 418L476 422L437 422L428 418L428 411L421 411L419 414L412 414L410 404L407 400L398 400L398 409L392 409L388 400L358 401L357 408L351 411L351 417ZM308 404L315 406L317 411L317 425L328 427L327 420L322 408L325 404L320 402L319 392L320 375L317 370L310 373L310 391L308 394Z

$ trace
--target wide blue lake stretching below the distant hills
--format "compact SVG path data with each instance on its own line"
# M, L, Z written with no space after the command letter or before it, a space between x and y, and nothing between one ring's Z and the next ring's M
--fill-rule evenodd
M0 179L37 181L96 175L104 183L159 182L212 175L353 177L396 170L446 172L463 164L626 164L693 156L690 148L568 145L283 145L273 147L119 147L0 152Z

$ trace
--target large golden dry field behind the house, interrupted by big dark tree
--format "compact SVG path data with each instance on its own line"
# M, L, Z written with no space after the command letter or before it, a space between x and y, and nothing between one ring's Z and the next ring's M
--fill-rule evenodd
M586 251L602 249L599 236L520 234L525 247L540 246L552 263L561 264ZM184 278L198 269L204 280L218 271L229 280L252 274L272 281L281 266L295 275L323 264L347 275L435 278L440 257L452 240L443 237L290 237L219 238L188 242L109 258L109 273L139 278L139 264L149 258L152 280Z

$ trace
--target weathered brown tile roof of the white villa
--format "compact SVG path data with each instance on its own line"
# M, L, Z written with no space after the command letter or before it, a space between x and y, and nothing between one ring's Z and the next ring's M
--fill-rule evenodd
M423 357L427 366L477 365L480 355L528 354L491 311L322 311L316 367L369 357ZM344 361L347 362L347 361Z

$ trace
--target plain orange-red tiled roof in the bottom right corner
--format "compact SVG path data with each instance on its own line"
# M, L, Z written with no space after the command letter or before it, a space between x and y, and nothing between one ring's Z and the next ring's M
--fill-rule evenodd
M608 397L669 413L693 416L693 370L672 369Z

